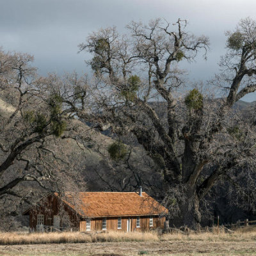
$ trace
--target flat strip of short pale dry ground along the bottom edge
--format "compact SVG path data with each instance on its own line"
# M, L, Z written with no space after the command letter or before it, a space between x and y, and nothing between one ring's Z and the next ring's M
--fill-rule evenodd
M145 252L145 253L143 253ZM256 255L255 241L153 241L0 246L6 256L230 256Z

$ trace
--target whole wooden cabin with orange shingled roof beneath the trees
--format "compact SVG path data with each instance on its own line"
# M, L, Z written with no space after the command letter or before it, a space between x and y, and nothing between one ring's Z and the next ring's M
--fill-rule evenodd
M168 210L147 193L79 192L53 193L24 215L35 230L146 231L163 228Z

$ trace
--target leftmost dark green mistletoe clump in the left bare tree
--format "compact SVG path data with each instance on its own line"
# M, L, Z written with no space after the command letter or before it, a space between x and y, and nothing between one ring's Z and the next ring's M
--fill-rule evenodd
M33 131L40 134L44 133L45 127L47 126L47 119L44 115L35 113L35 111L26 111L24 113L24 120L31 124Z

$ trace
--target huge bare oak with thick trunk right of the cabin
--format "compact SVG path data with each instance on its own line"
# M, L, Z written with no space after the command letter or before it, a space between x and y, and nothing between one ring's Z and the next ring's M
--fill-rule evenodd
M93 32L79 45L79 51L93 54L92 103L88 109L79 106L81 99L69 105L81 120L140 143L166 184L164 202L176 209L173 224L195 228L200 200L216 181L254 159L255 128L238 122L232 106L256 90L256 24L241 20L227 33L223 72L212 81L225 89L220 100L200 88L190 90L177 67L209 47L206 36L197 37L186 26L186 20L157 19L148 25L131 22L131 36L120 36L115 28Z

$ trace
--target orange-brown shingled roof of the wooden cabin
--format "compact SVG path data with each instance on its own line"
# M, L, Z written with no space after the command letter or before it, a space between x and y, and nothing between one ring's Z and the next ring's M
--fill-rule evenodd
M58 196L58 193L54 193ZM167 214L168 210L143 192L65 193L61 198L83 217L145 216Z

